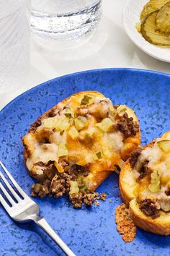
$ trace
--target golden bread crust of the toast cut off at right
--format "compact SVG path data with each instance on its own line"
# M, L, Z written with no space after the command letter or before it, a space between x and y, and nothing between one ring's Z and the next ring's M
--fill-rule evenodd
M169 132L168 132L169 133ZM168 134L164 136L166 136ZM153 140L150 144L143 147L151 148L156 140ZM136 226L140 229L145 231L152 232L154 234L161 234L161 235L169 235L170 234L170 213L165 213L164 211L160 210L160 216L158 218L151 218L146 216L139 208L138 202L136 201L135 195L133 194L133 190L135 189L135 180L133 186L130 187L130 184L126 184L125 180L132 171L132 167L130 165L130 158L125 164L122 166L120 171L120 180L119 180L119 187L120 187L120 196L122 201L125 202L126 205L129 205L130 208L130 218L132 218L133 222ZM137 183L136 183L137 185Z

